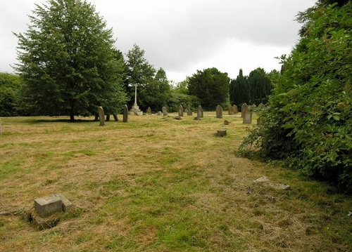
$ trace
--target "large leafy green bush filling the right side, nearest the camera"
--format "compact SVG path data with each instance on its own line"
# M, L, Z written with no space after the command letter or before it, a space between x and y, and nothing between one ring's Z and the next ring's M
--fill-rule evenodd
M305 32L289 57L275 94L240 147L295 159L308 175L352 192L352 3L320 5L301 13Z

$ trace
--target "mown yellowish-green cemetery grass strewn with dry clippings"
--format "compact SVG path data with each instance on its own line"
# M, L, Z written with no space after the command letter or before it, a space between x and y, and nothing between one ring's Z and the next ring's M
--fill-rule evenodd
M0 251L352 251L350 196L237 157L239 115L176 115L1 118ZM56 193L75 208L36 227Z

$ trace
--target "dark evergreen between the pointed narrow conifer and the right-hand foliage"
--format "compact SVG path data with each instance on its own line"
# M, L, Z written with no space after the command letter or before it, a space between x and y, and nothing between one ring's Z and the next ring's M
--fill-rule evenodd
M268 96L272 90L272 85L264 69L254 69L249 73L247 81L249 84L250 93L249 103L256 105L259 105L260 103L267 103Z

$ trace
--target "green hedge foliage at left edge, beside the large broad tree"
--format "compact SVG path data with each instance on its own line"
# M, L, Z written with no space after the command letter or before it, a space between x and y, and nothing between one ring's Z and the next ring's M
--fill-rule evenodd
M18 116L17 91L20 84L18 75L0 73L0 117Z

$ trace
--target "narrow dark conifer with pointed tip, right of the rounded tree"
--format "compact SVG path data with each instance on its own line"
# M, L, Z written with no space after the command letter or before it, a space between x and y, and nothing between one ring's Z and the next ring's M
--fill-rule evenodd
M242 69L239 69L239 75L230 82L230 102L237 107L242 104L249 104L251 100L251 90L248 77L243 75Z

